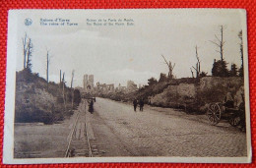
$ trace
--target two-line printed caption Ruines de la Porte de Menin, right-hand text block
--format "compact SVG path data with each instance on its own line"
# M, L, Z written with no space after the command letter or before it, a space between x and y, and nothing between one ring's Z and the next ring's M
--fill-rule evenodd
M87 26L91 27L125 27L134 26L133 19L87 19Z

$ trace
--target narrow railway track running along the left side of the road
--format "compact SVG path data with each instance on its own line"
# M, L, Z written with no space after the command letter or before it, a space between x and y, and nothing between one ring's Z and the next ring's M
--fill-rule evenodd
M86 113L86 101L82 101L68 136L65 157L93 157Z

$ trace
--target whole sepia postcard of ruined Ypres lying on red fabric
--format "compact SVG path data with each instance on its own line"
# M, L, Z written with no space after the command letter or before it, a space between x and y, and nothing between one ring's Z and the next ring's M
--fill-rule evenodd
M246 11L10 10L8 164L251 162Z

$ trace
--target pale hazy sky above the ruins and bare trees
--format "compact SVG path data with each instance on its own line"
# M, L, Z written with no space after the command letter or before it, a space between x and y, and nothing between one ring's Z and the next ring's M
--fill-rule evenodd
M17 71L23 69L22 38L32 38L32 72L46 76L46 51L49 51L49 81L59 82L65 72L70 85L75 70L75 86L83 85L85 74L95 76L95 84L126 85L128 80L147 84L148 79L168 73L161 55L175 63L176 78L191 77L195 66L195 46L201 70L211 75L219 50L217 41L224 26L224 60L241 64L239 38L242 15L238 10L79 10L21 12L17 28ZM25 26L26 18L32 19ZM61 18L78 26L41 26L40 20ZM133 20L134 26L88 26L88 19ZM123 22L125 23L125 22ZM126 23L125 23L126 24Z

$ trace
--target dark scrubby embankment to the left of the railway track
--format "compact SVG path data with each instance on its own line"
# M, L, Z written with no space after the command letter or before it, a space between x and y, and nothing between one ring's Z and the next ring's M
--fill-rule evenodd
M53 124L71 116L73 109L81 100L80 93L77 90L74 91L72 107L73 89L64 84L64 90L63 96L63 83L47 84L44 79L27 69L17 72L15 122Z

